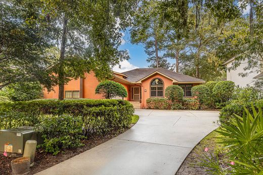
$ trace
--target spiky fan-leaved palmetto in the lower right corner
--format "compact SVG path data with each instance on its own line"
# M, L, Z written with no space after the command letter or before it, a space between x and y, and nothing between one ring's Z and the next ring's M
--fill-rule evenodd
M227 159L228 162L235 162L230 167L222 167L218 161L218 154L208 158L207 167L214 174L260 174L263 170L262 155L262 133L263 133L263 115L261 107L256 110L250 106L252 112L244 108L242 115L235 115L230 124L221 124L221 129L216 132L220 133L220 144L224 146L227 154L221 155L221 159ZM213 155L213 154L211 154Z

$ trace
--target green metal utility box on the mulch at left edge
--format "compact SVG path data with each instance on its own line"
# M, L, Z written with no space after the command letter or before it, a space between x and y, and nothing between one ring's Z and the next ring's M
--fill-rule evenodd
M0 130L0 152L23 154L28 140L36 140L37 144L42 143L41 137L31 126Z

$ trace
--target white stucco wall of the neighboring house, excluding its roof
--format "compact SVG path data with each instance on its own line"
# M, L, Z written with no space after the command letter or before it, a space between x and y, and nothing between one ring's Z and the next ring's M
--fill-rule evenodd
M226 66L227 68L232 67L232 62L228 63ZM240 66L238 66L235 70L227 70L227 80L235 82L236 85L239 85L240 87L244 87L247 84L253 85L253 77L255 77L258 73L256 73L256 69L253 70L252 73L249 73L251 70L244 70L244 68L247 66L247 59L242 61ZM239 76L239 73L249 73L248 76L242 77Z

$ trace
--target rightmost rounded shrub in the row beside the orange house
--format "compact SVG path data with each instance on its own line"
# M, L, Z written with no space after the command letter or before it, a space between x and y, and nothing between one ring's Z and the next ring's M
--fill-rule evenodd
M233 81L219 81L213 87L213 96L215 101L224 103L228 102L235 90L235 83Z

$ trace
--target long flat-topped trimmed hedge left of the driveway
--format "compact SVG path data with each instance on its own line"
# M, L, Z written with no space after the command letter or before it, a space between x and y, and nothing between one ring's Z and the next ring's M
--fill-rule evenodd
M80 116L84 136L105 135L128 127L133 105L123 100L32 100L0 103L0 128L34 126L44 118L69 114Z

